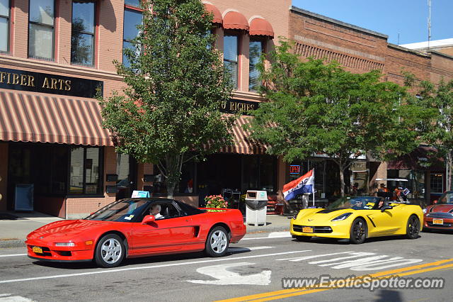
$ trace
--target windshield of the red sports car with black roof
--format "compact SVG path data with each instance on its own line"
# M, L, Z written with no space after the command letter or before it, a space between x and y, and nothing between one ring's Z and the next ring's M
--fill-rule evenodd
M122 221L131 222L134 217L140 216L147 207L148 201L135 199L122 199L110 203L96 213L91 214L86 220Z

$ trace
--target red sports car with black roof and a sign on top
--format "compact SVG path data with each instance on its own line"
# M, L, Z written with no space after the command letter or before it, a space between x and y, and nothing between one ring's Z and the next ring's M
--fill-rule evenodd
M245 234L239 210L207 212L172 199L125 198L87 218L44 225L25 243L33 259L117 267L125 258L150 255L205 250L221 257Z

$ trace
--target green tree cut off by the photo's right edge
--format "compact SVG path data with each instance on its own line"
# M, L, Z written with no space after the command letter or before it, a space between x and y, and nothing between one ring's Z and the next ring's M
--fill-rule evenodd
M407 86L417 91L411 102L423 110L433 111L433 116L423 127L420 140L437 148L435 158L444 157L447 168L447 190L452 190L453 169L453 80L442 79L438 84L420 81L415 84L415 76L406 74Z

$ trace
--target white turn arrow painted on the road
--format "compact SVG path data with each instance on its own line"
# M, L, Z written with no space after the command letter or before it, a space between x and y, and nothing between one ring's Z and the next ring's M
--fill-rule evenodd
M187 280L186 282L214 285L269 285L271 274L269 270L246 276L228 270L231 267L243 267L253 264L250 262L239 262L200 267L197 269L198 273L212 276L212 278L217 280Z

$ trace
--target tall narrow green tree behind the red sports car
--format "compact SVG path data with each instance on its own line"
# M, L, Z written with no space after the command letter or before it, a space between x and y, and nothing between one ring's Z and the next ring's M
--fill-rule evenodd
M117 152L157 164L172 198L184 162L231 143L234 117L219 111L231 84L200 0L150 0L142 8L139 36L124 50L130 66L115 62L126 86L99 99Z

